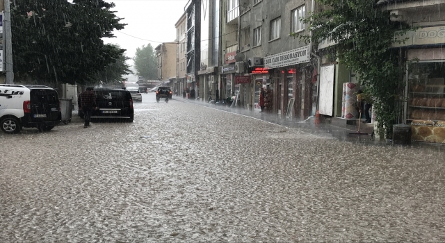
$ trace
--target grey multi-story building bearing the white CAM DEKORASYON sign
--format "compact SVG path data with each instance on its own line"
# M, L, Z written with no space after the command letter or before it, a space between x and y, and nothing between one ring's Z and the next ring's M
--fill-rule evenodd
M265 87L273 94L269 112L301 118L313 115L317 82L312 78L316 65L311 44L300 43L290 33L307 32L300 18L315 10L314 1L240 0L239 6L241 55L236 66L238 75L250 76L249 82L235 77L241 106L253 108L259 89Z

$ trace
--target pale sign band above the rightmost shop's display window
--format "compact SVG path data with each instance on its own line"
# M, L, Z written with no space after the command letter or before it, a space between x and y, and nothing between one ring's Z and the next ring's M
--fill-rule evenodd
M444 44L445 26L419 28L416 31L408 31L405 35L396 37L396 40L408 40L405 43L393 43L392 47L407 47L423 44Z

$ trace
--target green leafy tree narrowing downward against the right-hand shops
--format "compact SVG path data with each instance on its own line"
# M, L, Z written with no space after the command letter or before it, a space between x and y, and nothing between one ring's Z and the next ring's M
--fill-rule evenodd
M373 110L380 135L391 135L392 125L401 114L399 97L403 93L404 69L398 50L391 49L397 37L411 28L391 22L390 13L373 0L318 0L321 12L309 14L303 21L312 35L295 34L304 42L333 40L336 44L319 53L334 53L339 62L357 73L364 92L373 97Z

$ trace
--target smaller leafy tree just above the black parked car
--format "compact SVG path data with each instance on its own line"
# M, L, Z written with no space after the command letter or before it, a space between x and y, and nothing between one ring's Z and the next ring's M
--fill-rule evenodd
M116 49L120 49L118 45L113 45ZM126 63L130 58L121 54L115 62L111 62L106 68L97 72L95 80L99 83L106 84L120 84L122 83L122 75L133 74L130 66Z

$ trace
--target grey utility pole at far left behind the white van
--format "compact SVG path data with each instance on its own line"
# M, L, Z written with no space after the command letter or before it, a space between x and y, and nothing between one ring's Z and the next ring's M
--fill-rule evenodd
M5 15L3 16L3 28L5 37L5 71L6 83L14 84L13 72L13 42L11 33L11 12L9 8L9 0L5 1Z

